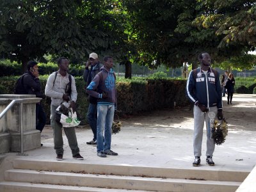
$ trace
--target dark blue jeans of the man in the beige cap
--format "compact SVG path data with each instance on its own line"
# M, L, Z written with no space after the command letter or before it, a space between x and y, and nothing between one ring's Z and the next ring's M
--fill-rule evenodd
M97 104L89 104L87 120L93 132L93 141L97 140Z

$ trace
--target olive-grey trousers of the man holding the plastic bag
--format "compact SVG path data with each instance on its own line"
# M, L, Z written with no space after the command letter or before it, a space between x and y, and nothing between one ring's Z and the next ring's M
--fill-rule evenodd
M62 138L62 125L58 124L55 121L56 109L58 106L51 105L51 126L53 129L53 140L54 140L54 149L56 150L56 154L63 155L63 138ZM65 134L68 139L68 145L72 150L72 155L79 154L79 148L76 140L76 131L75 127L63 127Z

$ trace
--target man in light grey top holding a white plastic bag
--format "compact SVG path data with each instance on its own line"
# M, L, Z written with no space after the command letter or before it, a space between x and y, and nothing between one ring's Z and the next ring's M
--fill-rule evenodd
M67 73L68 60L67 58L59 58L58 72L52 73L45 86L45 95L51 97L51 126L53 129L54 149L56 150L58 161L63 160L63 125L56 122L56 109L62 102L70 102L70 108L76 111L77 90L75 78ZM71 82L70 82L71 81ZM83 160L79 154L79 147L77 145L76 131L74 127L63 127L68 139L69 147L72 150L74 159Z

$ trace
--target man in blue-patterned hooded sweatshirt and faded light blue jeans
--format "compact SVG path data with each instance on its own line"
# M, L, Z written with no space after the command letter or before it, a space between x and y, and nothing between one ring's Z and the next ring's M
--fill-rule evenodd
M116 110L115 73L113 72L113 58L104 57L104 67L101 68L86 92L98 99L97 101L97 156L117 156L111 150L111 129ZM95 91L97 90L97 91ZM104 131L104 140L103 140Z

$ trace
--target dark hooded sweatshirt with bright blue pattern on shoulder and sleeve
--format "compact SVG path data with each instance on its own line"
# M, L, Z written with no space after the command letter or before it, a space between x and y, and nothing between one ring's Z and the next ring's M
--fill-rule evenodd
M92 82L87 86L86 93L98 98L97 104L116 106L115 74L111 68L109 71L102 67ZM103 99L102 93L108 93L108 98Z

